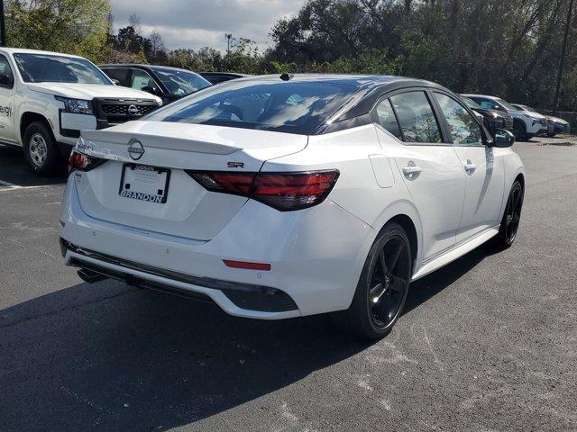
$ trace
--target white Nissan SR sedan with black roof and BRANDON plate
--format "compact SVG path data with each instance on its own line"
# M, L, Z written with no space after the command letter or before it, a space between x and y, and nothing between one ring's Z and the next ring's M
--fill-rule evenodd
M411 281L517 234L525 172L440 85L398 76L253 76L82 131L62 254L249 318L323 312L386 335Z

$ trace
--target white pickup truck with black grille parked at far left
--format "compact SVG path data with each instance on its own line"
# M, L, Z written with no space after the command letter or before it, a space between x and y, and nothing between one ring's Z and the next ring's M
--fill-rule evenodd
M136 120L161 103L114 85L86 58L0 48L0 142L22 147L35 174L57 171L80 130Z

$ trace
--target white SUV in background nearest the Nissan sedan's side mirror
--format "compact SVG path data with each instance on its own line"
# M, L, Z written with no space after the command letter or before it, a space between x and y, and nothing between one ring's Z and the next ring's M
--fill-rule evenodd
M484 94L463 94L463 96L479 103L481 108L508 112L513 117L513 134L519 140L529 140L547 132L548 121L545 115L519 109L500 97Z

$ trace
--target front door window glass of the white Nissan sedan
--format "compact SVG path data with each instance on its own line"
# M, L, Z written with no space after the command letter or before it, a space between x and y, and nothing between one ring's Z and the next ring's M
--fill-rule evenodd
M479 122L472 118L472 115L453 98L446 94L435 93L435 98L444 118L449 125L449 133L453 144L472 146L481 146L481 126Z

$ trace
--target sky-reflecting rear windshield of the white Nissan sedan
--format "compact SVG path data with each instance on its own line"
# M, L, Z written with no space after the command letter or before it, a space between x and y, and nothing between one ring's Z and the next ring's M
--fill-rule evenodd
M142 120L311 135L355 92L353 85L340 83L232 80L191 94Z

